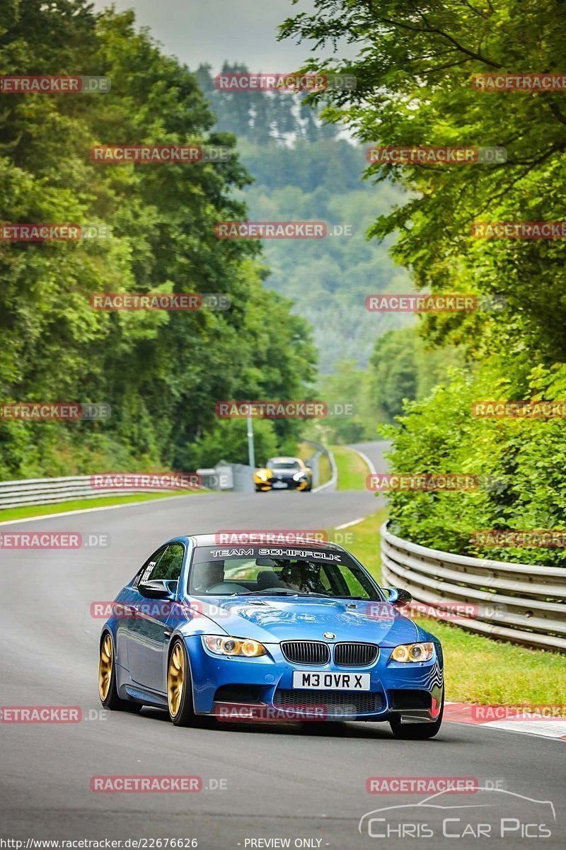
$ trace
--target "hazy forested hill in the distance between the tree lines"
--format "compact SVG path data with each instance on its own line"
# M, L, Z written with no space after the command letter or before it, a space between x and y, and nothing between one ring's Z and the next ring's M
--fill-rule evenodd
M223 71L246 68L225 65ZM263 241L271 272L265 284L292 298L294 312L314 326L322 374L335 371L343 359L365 367L376 337L411 320L407 314L365 309L373 292L412 291L387 245L365 237L374 219L401 200L400 190L361 181L364 150L339 139L339 129L319 122L300 96L219 92L206 66L196 76L218 117L217 129L236 133L241 159L255 178L244 190L250 220L351 226L352 236Z

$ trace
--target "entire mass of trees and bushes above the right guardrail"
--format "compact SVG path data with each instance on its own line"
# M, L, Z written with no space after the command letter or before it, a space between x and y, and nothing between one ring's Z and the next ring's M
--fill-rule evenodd
M563 549L478 550L480 529L561 529L564 523L563 420L472 415L480 399L563 399L566 383L566 243L475 239L479 221L562 221L566 200L566 111L562 92L474 88L472 75L556 72L563 77L566 8L558 0L315 0L314 14L287 20L282 37L317 47L339 39L361 45L342 64L313 58L305 67L349 72L354 92L312 94L322 117L345 122L364 143L444 145L507 150L496 164L375 162L367 178L389 176L408 190L405 202L370 230L396 235L395 259L417 288L502 295L507 309L429 314L427 342L452 342L473 360L409 402L392 428L395 471L469 473L500 479L503 489L395 492L391 518L401 536L448 551L536 563L565 564ZM399 337L396 337L397 342ZM393 337L378 343L387 354ZM373 367L379 372L376 362ZM397 354L394 377L415 392L411 354ZM387 395L386 395L386 400Z

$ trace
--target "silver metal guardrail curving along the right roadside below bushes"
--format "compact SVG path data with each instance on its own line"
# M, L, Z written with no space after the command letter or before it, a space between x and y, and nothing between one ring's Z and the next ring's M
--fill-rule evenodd
M474 605L473 616L457 619L472 632L566 652L566 569L440 552L391 534L387 523L380 533L384 585L434 607Z

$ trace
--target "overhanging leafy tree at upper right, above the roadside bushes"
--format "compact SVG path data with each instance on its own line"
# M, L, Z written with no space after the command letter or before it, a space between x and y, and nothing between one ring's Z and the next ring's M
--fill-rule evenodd
M410 190L371 232L398 235L394 256L417 288L504 296L508 309L498 314L430 317L429 335L465 343L479 357L495 348L524 373L533 354L547 363L566 356L565 243L474 239L471 227L563 218L566 111L560 94L481 91L471 77L562 71L565 25L558 0L316 0L314 14L281 28L281 37L315 39L319 48L339 38L364 45L353 61L305 64L356 76L355 91L310 99L363 142L507 149L499 165L371 165L368 178L393 176Z

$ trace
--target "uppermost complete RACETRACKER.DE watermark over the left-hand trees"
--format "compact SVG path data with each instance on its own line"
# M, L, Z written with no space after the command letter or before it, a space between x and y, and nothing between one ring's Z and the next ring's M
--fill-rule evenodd
M227 162L232 148L224 144L94 144L92 162L105 165L171 165L191 162Z

